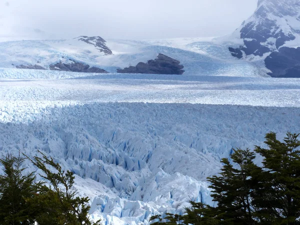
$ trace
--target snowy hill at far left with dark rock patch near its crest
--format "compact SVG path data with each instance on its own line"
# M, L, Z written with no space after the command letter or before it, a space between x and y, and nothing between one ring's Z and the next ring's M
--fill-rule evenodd
M69 61L91 64L88 57L105 56L111 50L101 37L80 36L69 40L20 40L0 42L0 67L38 67L49 69L55 63ZM83 60L80 60L80 59ZM85 60L84 60L85 59Z

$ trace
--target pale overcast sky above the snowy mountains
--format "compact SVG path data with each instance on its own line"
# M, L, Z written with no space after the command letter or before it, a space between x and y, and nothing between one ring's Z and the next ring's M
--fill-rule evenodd
M220 36L257 0L0 0L0 38Z

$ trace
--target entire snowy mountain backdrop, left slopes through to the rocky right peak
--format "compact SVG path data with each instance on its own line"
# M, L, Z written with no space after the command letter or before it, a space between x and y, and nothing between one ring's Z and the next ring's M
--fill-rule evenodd
M181 74L178 68L183 66L184 75L299 77L297 47L300 47L300 0L259 0L253 15L224 38L140 41L79 36L68 40L0 42L0 67ZM151 65L153 68L148 69L147 62L157 61L159 55L178 61L179 65L161 69L154 63L156 67Z

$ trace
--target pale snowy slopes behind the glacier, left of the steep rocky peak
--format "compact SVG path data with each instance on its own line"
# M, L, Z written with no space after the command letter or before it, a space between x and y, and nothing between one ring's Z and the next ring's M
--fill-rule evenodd
M101 37L82 36L68 40L0 42L0 67L61 70L59 65L70 64L64 67L73 67L73 63L77 62L81 64L75 67L82 67L82 70L88 65L89 68L115 73L118 69L155 61L161 54L171 57L174 62L179 61L184 75L266 76L263 65L239 61L230 57L226 45L202 38L105 41ZM164 70L180 70L176 67Z

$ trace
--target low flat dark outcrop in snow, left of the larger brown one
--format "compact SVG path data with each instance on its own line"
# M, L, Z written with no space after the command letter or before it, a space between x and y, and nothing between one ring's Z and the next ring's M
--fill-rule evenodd
M89 65L71 61L70 63L58 62L49 66L50 70L70 71L70 72L94 72L94 73L107 73L104 69L98 67L89 67Z

